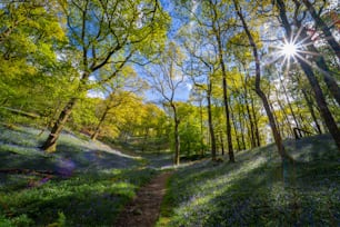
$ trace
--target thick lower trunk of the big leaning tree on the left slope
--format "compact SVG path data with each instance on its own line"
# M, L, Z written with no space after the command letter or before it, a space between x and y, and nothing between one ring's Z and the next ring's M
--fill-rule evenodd
M61 114L59 115L59 118L56 121L48 139L44 141L44 144L41 147L44 151L47 152L56 151L57 140L60 136L60 132L62 131L64 127L64 124L69 119L71 111L74 105L77 103L77 100L78 100L77 98L71 98L70 101L67 103L67 106L61 111Z

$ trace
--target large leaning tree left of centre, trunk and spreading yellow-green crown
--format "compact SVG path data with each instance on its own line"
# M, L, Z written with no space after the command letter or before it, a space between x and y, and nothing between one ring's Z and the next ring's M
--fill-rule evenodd
M137 53L152 55L161 48L168 17L158 1L69 0L62 2L70 43L82 53L79 86L64 106L48 139L46 151L54 151L59 135L73 107L89 88L89 78L107 71L106 83L114 78Z

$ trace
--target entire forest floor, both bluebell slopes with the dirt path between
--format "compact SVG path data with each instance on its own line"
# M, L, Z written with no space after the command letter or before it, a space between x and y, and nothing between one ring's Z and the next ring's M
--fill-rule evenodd
M69 132L46 154L47 136L0 125L0 226L340 226L329 135L287 139L283 178L273 145L173 168L170 154L132 157Z

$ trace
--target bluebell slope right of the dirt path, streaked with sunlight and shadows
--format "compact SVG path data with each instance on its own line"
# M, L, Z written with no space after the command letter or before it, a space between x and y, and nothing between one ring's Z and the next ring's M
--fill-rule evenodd
M238 152L236 164L202 161L168 184L158 226L339 226L340 156L329 136Z

